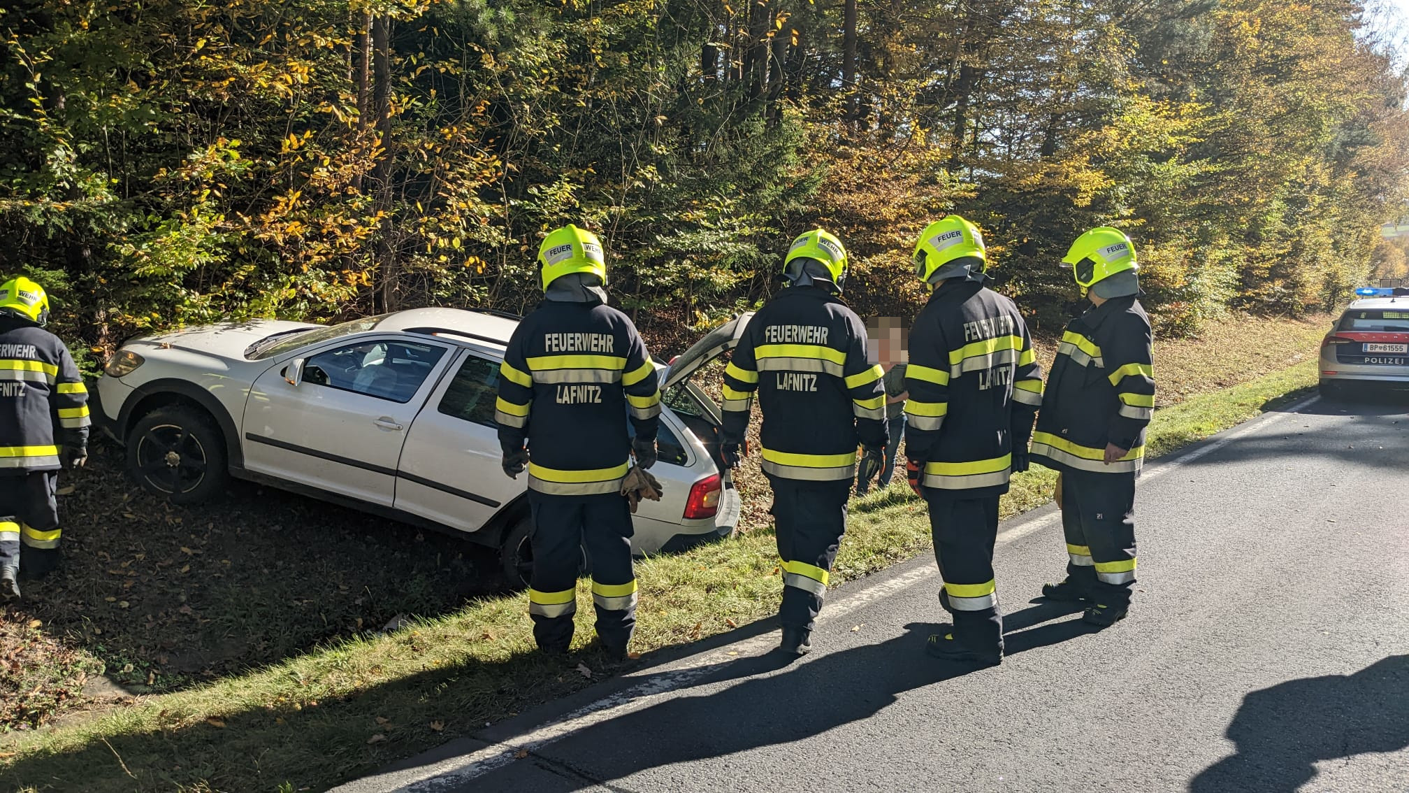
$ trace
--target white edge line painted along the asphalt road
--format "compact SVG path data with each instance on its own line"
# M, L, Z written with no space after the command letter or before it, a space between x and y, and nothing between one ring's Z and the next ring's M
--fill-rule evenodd
M1208 446L1181 454L1168 463L1151 466L1140 477L1141 484L1155 480L1185 463L1192 463L1193 460L1212 454L1240 437L1265 429L1267 426L1285 418L1288 413L1295 413L1316 399L1317 396L1313 395L1284 408L1278 413L1264 413L1261 418L1253 419L1247 425L1230 432L1213 443L1209 443ZM1036 532L1060 525L1061 514L1054 512L1041 518L1019 521L1020 522L1017 525L1003 531L998 536L996 545L1007 545ZM888 598L912 586L934 579L936 570L933 567L920 566L899 576L879 580L854 593L847 593L847 597L836 604L827 604L826 611L817 617L817 622L834 622L878 600ZM627 686L626 689L589 703L561 718L535 727L511 741L493 744L468 755L459 755L410 770L386 772L368 776L351 783L349 786L335 787L334 793L337 790L351 790L352 786L355 786L356 790L368 790L375 786L376 790L387 790L393 793L437 793L464 786L472 779L514 762L520 752L537 752L550 744L569 738L596 724L602 724L648 707L675 690L688 687L700 677L716 672L721 665L769 650L776 641L775 634L768 632L704 653L693 655L672 665L666 665L664 669L648 670L644 674L643 682L634 686Z

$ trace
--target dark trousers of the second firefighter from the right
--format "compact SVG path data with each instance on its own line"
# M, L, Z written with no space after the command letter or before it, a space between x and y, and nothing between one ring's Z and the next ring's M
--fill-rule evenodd
M1003 649L1003 617L993 580L998 495L964 498L964 491L926 487L934 559L944 591L940 604L954 618L954 641L981 652Z

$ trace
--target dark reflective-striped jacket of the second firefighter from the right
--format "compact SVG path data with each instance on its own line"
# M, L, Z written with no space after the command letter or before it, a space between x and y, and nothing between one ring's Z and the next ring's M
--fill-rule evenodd
M910 330L906 457L920 484L965 498L1007 492L1026 449L1043 373L1013 301L972 281L943 282Z

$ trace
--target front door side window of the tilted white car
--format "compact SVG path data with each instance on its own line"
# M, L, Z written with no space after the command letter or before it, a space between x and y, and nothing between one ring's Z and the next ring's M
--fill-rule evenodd
M444 354L444 347L409 341L345 344L310 357L303 381L406 404Z

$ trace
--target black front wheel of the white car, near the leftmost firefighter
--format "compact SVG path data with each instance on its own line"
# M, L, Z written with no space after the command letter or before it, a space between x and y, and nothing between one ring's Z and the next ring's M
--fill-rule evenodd
M225 442L203 412L158 408L128 433L127 470L172 504L209 501L225 487Z

